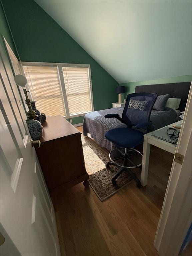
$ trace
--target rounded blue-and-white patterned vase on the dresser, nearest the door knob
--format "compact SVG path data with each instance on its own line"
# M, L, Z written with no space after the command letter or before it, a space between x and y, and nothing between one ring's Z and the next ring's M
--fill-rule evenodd
M29 133L31 135L31 139L32 140L40 139L43 133L41 123L34 119L27 119L26 123L29 129Z

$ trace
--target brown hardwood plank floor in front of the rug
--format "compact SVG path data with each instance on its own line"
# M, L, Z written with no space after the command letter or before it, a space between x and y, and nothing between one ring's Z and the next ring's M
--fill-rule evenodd
M78 127L82 131L82 127ZM133 181L101 202L78 184L52 201L62 256L157 256L153 241L173 155L151 146L148 185Z

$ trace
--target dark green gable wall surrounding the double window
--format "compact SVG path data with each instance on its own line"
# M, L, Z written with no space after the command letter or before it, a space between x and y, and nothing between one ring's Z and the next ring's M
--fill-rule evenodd
M91 65L94 110L117 101L117 81L33 0L2 0L21 61ZM82 118L72 118L73 124Z

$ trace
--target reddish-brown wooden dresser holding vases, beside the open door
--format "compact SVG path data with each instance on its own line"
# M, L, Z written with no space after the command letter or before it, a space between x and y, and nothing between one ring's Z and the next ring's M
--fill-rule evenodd
M47 117L42 126L41 145L35 150L48 190L68 188L82 181L89 186L81 133L62 116Z

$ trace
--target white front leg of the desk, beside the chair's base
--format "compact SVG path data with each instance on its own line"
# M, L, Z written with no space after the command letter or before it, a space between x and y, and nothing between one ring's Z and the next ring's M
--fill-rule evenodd
M142 184L142 186L146 186L147 185L150 147L151 147L151 144L147 143L147 139L145 139L145 137L144 137L142 171L141 171L141 184Z

